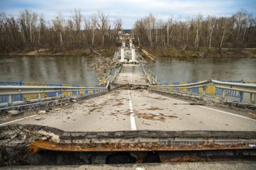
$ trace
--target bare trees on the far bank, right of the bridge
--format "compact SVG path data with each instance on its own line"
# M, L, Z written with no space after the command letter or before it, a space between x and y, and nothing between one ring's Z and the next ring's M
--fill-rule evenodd
M178 50L202 48L256 47L256 18L241 9L232 16L203 17L163 21L153 14L134 23L133 33L145 47L170 47Z

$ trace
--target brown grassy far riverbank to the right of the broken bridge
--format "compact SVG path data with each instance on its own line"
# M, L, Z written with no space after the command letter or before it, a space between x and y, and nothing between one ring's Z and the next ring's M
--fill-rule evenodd
M191 50L176 50L170 48L145 48L156 57L256 57L256 49L201 49L199 52Z

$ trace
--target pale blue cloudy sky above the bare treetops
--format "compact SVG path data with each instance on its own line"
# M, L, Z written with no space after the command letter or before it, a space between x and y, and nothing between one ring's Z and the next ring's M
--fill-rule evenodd
M74 8L80 9L85 17L97 11L109 13L110 21L122 18L123 28L132 28L134 21L153 13L164 21L174 18L203 16L230 16L244 8L256 16L256 0L0 0L0 11L17 16L18 11L25 8L43 13L47 21L59 12L65 18L70 16Z

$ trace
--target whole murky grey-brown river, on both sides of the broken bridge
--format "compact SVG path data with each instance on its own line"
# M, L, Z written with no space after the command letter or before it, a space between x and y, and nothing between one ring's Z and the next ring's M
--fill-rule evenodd
M41 81L81 86L99 84L89 64L93 57L0 57L0 81ZM255 80L256 57L158 57L147 65L162 83L173 81Z

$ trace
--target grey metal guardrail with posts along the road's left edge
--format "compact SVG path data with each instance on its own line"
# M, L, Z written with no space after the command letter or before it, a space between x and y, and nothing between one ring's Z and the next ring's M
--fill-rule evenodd
M36 94L40 101L42 94L55 93L55 97L60 96L90 96L102 94L108 91L109 82L104 87L75 87L75 86L0 86L0 96L7 96L8 107L14 106L14 96L24 94ZM72 92L73 93L70 93ZM63 93L64 92L64 93ZM74 95L75 92L75 95ZM82 93L81 93L82 92ZM21 100L20 100L21 101Z

